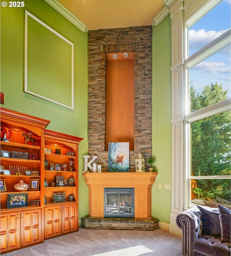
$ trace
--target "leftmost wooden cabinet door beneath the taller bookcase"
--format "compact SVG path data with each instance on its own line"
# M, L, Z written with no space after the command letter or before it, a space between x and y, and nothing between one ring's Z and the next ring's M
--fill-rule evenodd
M1 253L20 248L20 212L1 213Z

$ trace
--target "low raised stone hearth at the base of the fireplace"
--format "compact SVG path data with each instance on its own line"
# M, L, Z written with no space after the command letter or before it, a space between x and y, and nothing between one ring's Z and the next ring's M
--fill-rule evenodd
M81 218L82 227L85 229L110 229L110 230L154 230L158 229L159 219L136 218Z

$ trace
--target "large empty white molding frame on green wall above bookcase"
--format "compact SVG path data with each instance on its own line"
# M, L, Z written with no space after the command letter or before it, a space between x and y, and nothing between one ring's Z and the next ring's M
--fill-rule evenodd
M74 109L74 44L27 10L25 92Z

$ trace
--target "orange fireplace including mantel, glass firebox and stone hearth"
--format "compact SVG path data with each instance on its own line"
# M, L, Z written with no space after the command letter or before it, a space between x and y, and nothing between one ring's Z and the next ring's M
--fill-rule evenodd
M83 176L89 189L89 214L81 218L82 227L117 230L158 229L159 220L152 217L151 203L151 189L157 172L84 172ZM109 189L106 197L105 188ZM115 195L119 195L117 199ZM113 208L114 204L116 207ZM105 209L112 217L105 215ZM118 212L122 216L116 217ZM134 217L129 216L131 213Z

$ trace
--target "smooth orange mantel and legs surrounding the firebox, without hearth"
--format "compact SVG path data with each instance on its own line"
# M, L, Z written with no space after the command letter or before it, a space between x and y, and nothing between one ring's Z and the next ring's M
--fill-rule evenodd
M104 217L104 188L135 188L135 218L152 217L151 188L157 172L85 172L89 189L89 216Z

